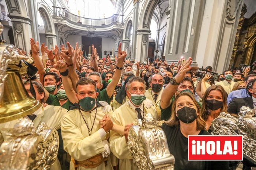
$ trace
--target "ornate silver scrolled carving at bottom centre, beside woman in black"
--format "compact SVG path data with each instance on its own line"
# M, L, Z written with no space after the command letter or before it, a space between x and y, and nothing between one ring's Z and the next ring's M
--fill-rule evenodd
M162 121L147 113L132 125L128 135L128 148L139 170L173 170L174 157L168 149Z

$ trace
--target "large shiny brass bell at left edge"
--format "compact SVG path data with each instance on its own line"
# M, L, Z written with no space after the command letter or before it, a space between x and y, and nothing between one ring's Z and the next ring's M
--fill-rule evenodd
M24 56L13 45L0 45L0 123L37 111L41 104L30 97L20 77L27 67L17 67Z

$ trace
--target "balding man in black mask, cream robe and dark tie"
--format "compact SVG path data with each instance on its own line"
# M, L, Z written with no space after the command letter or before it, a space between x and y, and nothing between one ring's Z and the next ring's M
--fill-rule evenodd
M145 97L152 101L157 109L158 117L161 115L160 100L163 92L163 84L165 80L162 74L155 73L153 76L148 78L149 89L146 90Z

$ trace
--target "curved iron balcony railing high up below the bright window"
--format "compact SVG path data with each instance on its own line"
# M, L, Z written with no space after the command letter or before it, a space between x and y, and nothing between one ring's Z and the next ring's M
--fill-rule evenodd
M78 15L74 15L73 13L67 11L65 8L60 7L53 7L53 15L65 17L67 20L73 23L96 27L104 27L116 23L123 24L124 22L123 15L114 14L113 16L104 19L84 18Z

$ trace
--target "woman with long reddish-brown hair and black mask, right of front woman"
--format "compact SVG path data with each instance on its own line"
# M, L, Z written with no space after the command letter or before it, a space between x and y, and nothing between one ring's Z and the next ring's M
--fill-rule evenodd
M202 109L200 115L206 121L206 130L211 132L211 122L221 112L227 111L227 93L220 85L213 85L206 90L202 98Z

